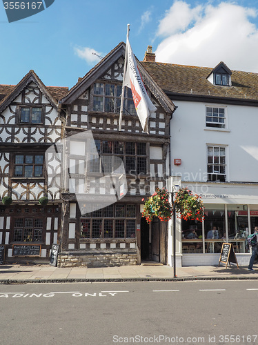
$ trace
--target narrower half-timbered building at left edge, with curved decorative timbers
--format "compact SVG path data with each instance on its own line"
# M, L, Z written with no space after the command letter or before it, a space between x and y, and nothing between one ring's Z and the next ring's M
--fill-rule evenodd
M67 92L46 87L33 70L17 86L0 86L0 195L12 198L0 206L0 244L9 262L32 259L22 247L15 257L15 244L30 244L28 254L46 259L60 241L60 181L48 184L45 152L63 135L57 99ZM41 197L48 197L47 206L39 204Z

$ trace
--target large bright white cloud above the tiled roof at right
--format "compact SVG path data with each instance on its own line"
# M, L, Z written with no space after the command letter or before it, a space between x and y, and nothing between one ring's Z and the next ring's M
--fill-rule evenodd
M160 21L156 61L258 72L257 10L233 3L190 8L175 1Z

